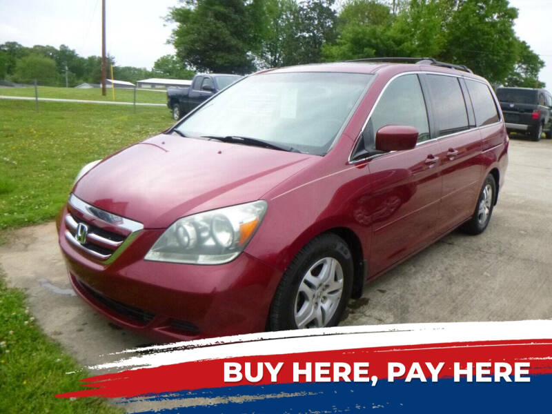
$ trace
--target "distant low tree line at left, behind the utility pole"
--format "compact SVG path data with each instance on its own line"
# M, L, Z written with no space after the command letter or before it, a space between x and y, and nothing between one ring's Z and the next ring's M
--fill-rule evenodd
M132 83L150 77L191 79L194 75L172 55L157 59L152 70L117 66L113 56L107 57L107 64L108 68L114 66L115 79ZM32 83L37 79L43 86L66 86L66 75L68 86L84 82L100 83L101 57L81 57L66 45L59 48L39 45L27 48L14 41L0 45L0 80Z

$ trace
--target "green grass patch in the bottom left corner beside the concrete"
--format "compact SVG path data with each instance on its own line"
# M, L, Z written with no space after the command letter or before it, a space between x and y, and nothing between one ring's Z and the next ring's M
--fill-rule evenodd
M122 413L96 398L55 397L77 391L86 372L66 374L80 367L37 327L24 298L0 274L0 413Z

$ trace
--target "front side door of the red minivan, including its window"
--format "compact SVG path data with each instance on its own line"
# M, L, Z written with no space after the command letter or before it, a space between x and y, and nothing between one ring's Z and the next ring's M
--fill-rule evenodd
M414 126L420 135L415 148L369 161L371 275L431 243L440 215L440 147L431 139L418 75L402 75L388 83L363 132L367 150L375 148L375 134L386 125Z

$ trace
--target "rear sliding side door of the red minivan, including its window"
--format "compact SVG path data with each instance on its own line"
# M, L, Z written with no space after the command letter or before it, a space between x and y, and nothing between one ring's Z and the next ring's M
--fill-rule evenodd
M463 79L433 74L423 79L440 144L443 188L436 230L442 235L473 214L483 170L482 137Z

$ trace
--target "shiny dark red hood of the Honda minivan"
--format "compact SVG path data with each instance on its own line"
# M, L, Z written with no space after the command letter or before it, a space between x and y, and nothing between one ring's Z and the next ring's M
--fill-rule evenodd
M166 228L185 215L255 201L319 159L157 135L104 159L79 180L73 193L146 228Z

